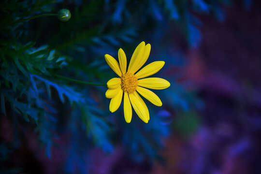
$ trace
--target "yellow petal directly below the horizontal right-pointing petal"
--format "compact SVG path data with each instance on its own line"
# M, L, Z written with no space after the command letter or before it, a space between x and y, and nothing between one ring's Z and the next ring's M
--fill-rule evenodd
M149 102L152 102L156 106L162 106L160 98L151 90L148 90L144 87L137 87L136 90Z

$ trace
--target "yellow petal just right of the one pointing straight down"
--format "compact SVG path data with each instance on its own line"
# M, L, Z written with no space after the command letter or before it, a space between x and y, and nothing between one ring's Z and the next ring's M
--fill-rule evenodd
M145 122L148 123L149 120L149 112L145 102L139 96L139 94L135 91L129 94L131 105L137 115Z

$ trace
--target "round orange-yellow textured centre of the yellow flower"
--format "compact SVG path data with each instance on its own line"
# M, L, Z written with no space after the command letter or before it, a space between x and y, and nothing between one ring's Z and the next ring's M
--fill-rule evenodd
M128 92L129 94L136 90L138 86L138 79L132 73L126 73L121 76L121 88L124 92Z

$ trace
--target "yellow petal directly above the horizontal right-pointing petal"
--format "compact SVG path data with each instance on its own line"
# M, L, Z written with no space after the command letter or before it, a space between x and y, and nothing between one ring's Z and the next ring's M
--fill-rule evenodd
M142 68L135 76L140 79L158 73L164 66L164 61L155 61Z

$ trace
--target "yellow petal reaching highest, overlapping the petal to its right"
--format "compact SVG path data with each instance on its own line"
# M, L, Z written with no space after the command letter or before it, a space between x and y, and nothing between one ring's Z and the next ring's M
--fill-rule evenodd
M136 71L143 65L140 66L142 59L144 58L145 42L141 42L133 52L131 56L131 61L128 67L128 72L136 73ZM145 63L145 62L144 62Z

